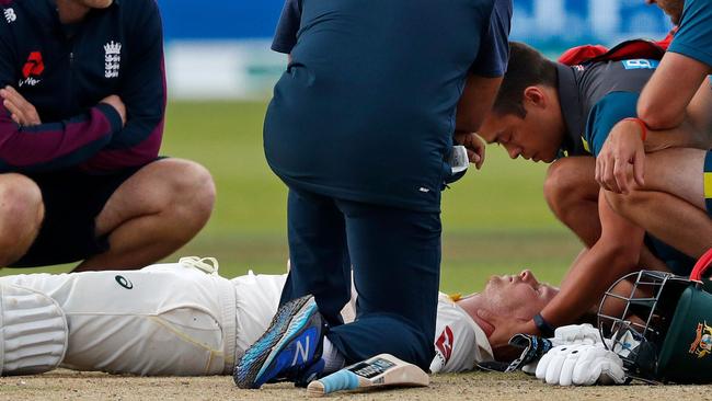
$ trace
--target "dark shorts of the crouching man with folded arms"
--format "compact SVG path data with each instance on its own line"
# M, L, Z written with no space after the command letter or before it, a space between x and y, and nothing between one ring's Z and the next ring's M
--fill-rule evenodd
M108 250L96 237L95 219L114 192L141 167L111 174L78 170L26 174L42 191L45 219L27 253L8 267L33 267L82 261Z

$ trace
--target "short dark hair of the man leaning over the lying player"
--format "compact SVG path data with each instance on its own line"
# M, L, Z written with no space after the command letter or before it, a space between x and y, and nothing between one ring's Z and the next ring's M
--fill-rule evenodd
M499 92L492 107L499 115L514 114L524 118L524 90L543 84L556 88L556 64L535 48L520 42L509 43L509 62Z

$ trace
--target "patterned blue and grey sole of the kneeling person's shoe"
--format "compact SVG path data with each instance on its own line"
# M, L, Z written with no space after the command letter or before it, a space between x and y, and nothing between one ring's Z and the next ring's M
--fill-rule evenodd
M317 312L312 296L294 299L279 308L269 328L238 362L234 369L234 383L241 389L259 389L272 379L265 376L276 356L296 336L301 334L311 317Z

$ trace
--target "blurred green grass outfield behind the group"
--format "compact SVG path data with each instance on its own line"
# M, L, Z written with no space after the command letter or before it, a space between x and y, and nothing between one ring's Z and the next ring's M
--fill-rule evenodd
M222 275L280 273L287 260L286 188L262 150L264 102L172 102L162 153L196 160L213 173L218 197L207 227L182 255L216 256ZM579 243L543 202L544 164L512 161L490 147L483 170L444 193L445 291L473 291L492 274L531 268L558 284ZM0 274L64 272L71 266L5 268Z

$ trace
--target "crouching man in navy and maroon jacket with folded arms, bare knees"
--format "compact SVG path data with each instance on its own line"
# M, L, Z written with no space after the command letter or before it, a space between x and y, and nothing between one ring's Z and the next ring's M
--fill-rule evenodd
M215 187L158 157L154 0L0 0L0 265L131 268L185 244Z

